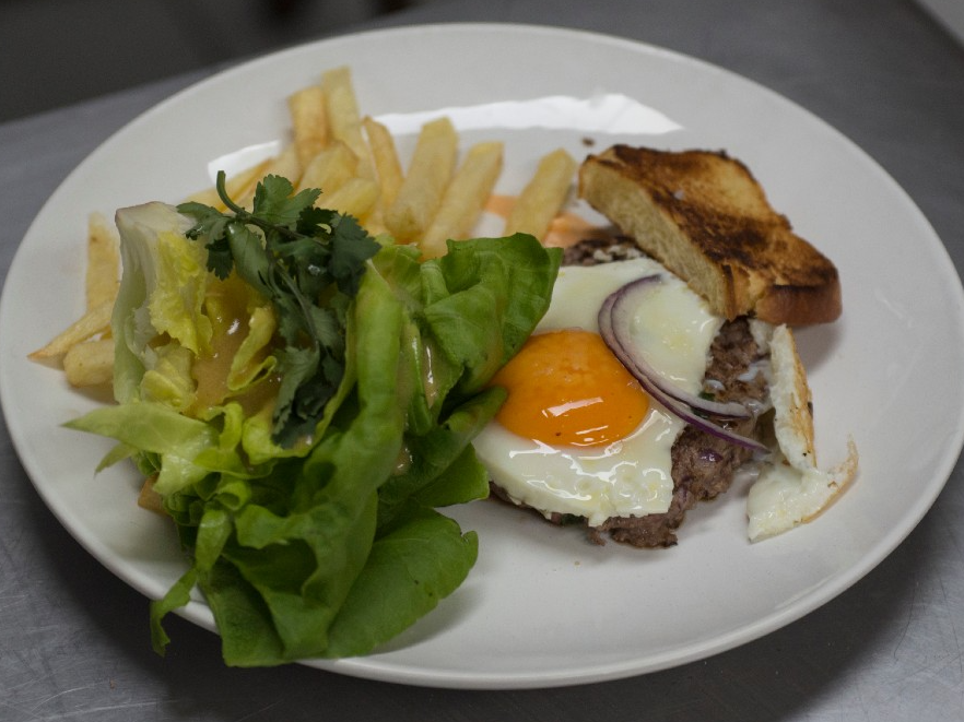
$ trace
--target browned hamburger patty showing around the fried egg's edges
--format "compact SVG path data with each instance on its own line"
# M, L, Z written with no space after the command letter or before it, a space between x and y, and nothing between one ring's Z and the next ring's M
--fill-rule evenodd
M618 239L612 244L587 240L566 249L567 265L591 265L632 258L638 249L631 240ZM745 318L724 323L713 346L710 362L704 378L704 390L718 401L757 402L763 404L767 395L766 377L757 372L755 363L760 351L750 332ZM752 436L755 417L732 425L733 430ZM589 538L597 544L606 543L608 533L614 541L637 547L666 547L677 543L677 529L686 511L697 501L713 499L732 484L737 469L752 457L752 451L725 441L694 426L686 426L673 443L672 478L673 496L665 513L645 517L611 517L599 526L588 526ZM508 500L495 484L493 494ZM571 514L552 514L549 521L556 524L586 523L585 519Z

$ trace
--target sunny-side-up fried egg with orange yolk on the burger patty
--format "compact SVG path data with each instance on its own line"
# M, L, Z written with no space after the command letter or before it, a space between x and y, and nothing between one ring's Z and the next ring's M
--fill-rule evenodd
M649 258L563 267L549 311L493 379L508 396L474 441L479 460L516 504L552 514L662 513L673 493L672 445L684 423L649 398L599 335L606 297L660 274L635 309L632 343L672 382L702 389L722 324L705 300Z

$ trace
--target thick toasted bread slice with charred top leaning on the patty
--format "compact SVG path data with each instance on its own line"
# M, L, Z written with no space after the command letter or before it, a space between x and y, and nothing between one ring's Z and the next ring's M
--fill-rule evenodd
M837 269L724 152L614 145L579 169L579 194L728 319L833 321Z

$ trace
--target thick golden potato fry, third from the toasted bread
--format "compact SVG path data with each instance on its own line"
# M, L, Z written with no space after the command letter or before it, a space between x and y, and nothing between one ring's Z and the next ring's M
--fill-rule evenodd
M422 126L405 179L385 214L385 225L397 240L419 238L435 216L451 180L458 134L448 118Z

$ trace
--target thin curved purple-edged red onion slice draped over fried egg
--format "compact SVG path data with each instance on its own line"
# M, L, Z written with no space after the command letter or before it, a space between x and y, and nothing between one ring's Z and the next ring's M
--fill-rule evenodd
M667 382L639 354L632 353L628 343L630 322L632 320L633 299L639 294L648 293L662 281L659 274L643 276L625 284L610 294L599 309L599 333L602 340L620 359L623 366L639 381L639 386L666 409L687 424L713 434L721 439L737 443L754 451L767 451L767 448L749 437L736 434L718 426L700 413L726 418L749 418L751 412L738 403L718 403L701 399Z

